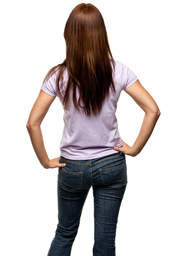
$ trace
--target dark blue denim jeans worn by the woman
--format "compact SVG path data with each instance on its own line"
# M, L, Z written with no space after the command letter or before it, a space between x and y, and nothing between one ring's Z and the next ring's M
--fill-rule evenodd
M119 209L127 184L124 153L89 160L60 156L58 168L58 225L48 256L70 256L83 205L92 186L94 196L93 256L115 256ZM81 253L80 253L81 255Z

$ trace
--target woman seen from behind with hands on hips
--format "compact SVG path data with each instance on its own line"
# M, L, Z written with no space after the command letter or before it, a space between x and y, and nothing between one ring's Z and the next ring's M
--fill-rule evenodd
M64 38L66 59L47 73L27 123L40 163L44 168L59 167L59 222L48 256L71 255L91 186L93 255L115 255L118 213L127 185L125 155L140 153L160 111L132 70L113 59L103 18L95 6L74 8ZM122 90L145 112L133 146L118 132L115 112ZM64 131L60 157L49 159L40 125L56 97L64 108Z

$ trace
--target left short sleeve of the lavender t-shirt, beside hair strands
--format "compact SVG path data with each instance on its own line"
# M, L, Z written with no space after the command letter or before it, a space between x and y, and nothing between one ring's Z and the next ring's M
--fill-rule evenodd
M41 90L51 96L58 96L56 94L56 73L54 73L50 78L47 78L41 86Z

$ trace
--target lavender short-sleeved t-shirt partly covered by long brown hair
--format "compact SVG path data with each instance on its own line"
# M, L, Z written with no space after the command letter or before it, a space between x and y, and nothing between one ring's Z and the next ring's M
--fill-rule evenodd
M54 97L58 97L60 102L63 100L56 92L56 73L46 80L41 89ZM63 87L61 93L67 86L68 72L64 72ZM64 108L64 130L60 142L61 156L68 159L83 160L94 159L101 156L117 153L113 149L114 146L122 147L122 138L118 132L118 124L116 118L117 102L122 90L131 86L138 78L128 66L122 62L115 60L115 90L113 94L110 88L109 99L105 99L102 110L97 116L91 115L87 117L81 109L79 113L70 101L67 111ZM70 94L70 99L72 92ZM77 99L79 92L77 89ZM82 105L81 105L82 106Z

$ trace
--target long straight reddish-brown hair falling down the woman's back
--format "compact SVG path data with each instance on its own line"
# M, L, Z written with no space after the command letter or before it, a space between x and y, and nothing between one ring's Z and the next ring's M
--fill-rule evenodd
M67 109L72 89L76 110L85 109L87 116L100 113L109 89L115 92L115 61L112 57L103 17L92 4L80 4L71 12L65 26L66 59L51 68L44 78L57 71L56 90ZM67 68L68 81L65 95L60 92L63 73ZM44 82L43 81L43 82ZM60 86L59 86L60 84ZM76 98L79 89L79 100ZM80 101L84 106L80 105ZM90 110L91 109L91 110Z

